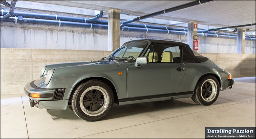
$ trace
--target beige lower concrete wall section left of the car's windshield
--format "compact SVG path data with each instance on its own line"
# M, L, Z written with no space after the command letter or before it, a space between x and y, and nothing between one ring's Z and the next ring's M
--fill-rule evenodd
M44 65L99 60L112 51L1 48L1 95L23 94Z

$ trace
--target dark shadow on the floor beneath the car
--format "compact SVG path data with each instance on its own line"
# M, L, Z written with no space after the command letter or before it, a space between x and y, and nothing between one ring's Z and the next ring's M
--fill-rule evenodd
M102 120L114 119L119 117L125 117L129 115L144 113L144 112L154 112L161 110L173 110L177 108L198 106L197 104L191 104L179 100L166 100L166 101L157 101L157 102L146 102L146 103L138 103L138 104L126 104L118 106L118 104L114 104L111 110L108 112L107 116ZM71 105L68 105L67 110L46 110L51 116L52 119L70 119L77 120L80 119L73 112Z

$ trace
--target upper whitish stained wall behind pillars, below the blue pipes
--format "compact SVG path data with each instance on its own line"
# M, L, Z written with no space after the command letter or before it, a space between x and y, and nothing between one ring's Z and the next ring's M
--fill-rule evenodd
M120 44L135 39L187 43L186 35L121 31ZM1 23L1 48L109 50L108 30ZM199 53L236 53L236 39L199 38ZM245 41L245 54L255 54L255 41Z

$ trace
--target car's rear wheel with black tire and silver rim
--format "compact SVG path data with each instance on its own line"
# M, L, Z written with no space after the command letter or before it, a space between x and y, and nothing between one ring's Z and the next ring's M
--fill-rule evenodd
M201 105L213 104L220 94L219 81L214 76L204 76L196 84L192 100Z

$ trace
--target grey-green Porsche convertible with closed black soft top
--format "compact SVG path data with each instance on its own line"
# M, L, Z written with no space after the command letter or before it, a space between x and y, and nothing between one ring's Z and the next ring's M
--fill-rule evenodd
M41 77L28 82L30 107L67 109L86 121L106 117L118 105L191 97L213 104L220 91L235 83L230 73L190 49L164 40L133 40L108 57L92 62L44 66Z

